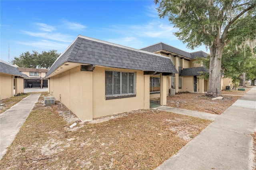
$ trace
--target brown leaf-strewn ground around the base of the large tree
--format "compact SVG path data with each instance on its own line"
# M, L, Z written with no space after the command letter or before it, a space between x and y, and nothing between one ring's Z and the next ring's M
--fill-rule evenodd
M167 106L220 115L249 90L221 91L224 97L222 100L212 100L201 93L178 93L167 97Z

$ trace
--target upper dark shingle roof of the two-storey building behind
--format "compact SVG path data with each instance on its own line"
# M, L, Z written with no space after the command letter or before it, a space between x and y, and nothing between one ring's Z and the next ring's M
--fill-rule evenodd
M170 53L182 55L184 57L188 57L191 59L195 59L196 57L207 57L207 55L208 55L207 53L205 53L203 51L196 51L193 53L189 53L189 52L183 51L181 49L175 48L171 45L168 45L168 44L162 43L162 42L159 42L159 43L156 43L153 45L149 45L148 47L144 47L140 50L144 50L144 51L148 51L148 52L152 52L152 53L156 52L156 51L165 50L165 51L169 51Z

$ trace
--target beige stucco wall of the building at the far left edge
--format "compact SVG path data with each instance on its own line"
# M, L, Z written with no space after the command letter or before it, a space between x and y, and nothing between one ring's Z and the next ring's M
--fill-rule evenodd
M14 79L13 75L0 73L0 99L6 99L14 96Z

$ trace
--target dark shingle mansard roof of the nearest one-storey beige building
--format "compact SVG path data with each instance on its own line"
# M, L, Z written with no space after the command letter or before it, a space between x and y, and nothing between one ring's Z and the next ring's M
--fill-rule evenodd
M160 73L178 73L168 57L80 35L58 57L46 77L65 62Z

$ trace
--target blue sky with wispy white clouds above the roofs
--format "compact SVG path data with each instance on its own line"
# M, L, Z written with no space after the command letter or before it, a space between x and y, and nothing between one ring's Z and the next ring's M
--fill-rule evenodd
M206 52L204 46L187 49L172 34L177 28L159 18L153 0L1 0L0 14L0 59L7 62L8 54L11 61L32 50L62 53L79 34L136 49L164 42Z

